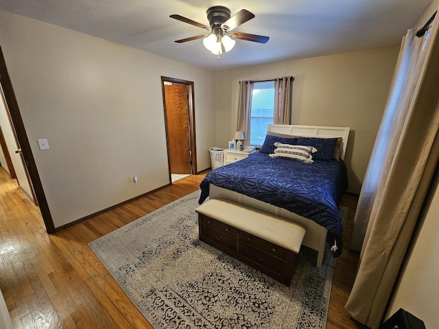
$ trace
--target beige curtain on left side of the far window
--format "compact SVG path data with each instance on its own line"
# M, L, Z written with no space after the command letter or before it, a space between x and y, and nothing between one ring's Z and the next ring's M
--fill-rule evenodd
M239 82L237 132L244 132L244 145L250 145L250 116L252 114L253 84L250 81Z

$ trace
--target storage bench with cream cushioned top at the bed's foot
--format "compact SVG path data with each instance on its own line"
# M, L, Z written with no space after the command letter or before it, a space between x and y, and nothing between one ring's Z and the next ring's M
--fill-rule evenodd
M305 228L225 199L210 199L195 211L200 241L289 286Z

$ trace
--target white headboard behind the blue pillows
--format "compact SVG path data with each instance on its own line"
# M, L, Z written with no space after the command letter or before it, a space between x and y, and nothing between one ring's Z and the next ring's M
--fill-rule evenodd
M342 159L346 153L346 145L348 145L349 130L351 130L350 127L323 127L320 125L268 125L269 132L278 134L320 138L342 137Z

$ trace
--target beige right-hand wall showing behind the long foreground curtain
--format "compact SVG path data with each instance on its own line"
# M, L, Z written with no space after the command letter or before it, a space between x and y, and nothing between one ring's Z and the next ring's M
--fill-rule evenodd
M435 0L418 21L417 26L423 26L438 8L439 0ZM439 16L436 15L436 19L438 18ZM390 317L399 308L404 308L422 319L427 328L437 328L439 324L437 310L439 304L439 240L437 237L439 232L439 177L434 182L428 201L385 318Z

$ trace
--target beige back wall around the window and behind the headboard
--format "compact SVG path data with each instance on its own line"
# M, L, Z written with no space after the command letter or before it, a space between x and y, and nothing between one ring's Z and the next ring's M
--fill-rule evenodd
M399 45L217 73L218 146L226 146L235 132L239 80L294 75L292 123L351 127L345 160L349 191L359 193L398 53Z

